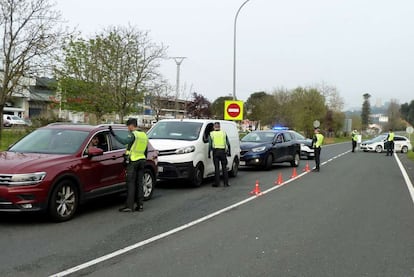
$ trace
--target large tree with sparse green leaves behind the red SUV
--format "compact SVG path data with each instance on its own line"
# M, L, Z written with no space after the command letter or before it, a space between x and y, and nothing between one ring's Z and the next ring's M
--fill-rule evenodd
M71 38L56 69L67 107L93 113L98 121L116 112L122 121L160 79L165 50L132 26L110 27L88 40Z

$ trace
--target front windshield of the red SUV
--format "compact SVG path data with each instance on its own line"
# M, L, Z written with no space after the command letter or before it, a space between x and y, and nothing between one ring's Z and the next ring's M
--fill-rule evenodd
M73 154L79 150L88 132L38 129L13 145L9 151L19 153Z

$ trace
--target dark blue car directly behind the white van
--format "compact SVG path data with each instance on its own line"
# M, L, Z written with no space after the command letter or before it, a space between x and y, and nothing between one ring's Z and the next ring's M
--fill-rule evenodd
M253 131L241 139L240 165L270 169L273 163L300 163L300 135L291 130Z

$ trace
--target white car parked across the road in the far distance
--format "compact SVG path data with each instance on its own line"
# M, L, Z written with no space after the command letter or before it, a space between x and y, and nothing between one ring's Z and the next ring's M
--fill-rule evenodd
M360 149L364 152L375 151L381 153L385 151L384 143L387 140L388 134L382 134L378 137L375 137L371 140L363 141L360 145ZM401 153L407 153L409 150L412 150L413 147L408 138L403 136L394 136L394 151L400 151Z

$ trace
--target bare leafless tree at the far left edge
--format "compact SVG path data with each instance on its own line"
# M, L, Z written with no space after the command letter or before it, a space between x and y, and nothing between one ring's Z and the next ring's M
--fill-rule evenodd
M61 23L49 0L0 0L0 115L24 77L44 70L60 48ZM2 121L0 116L0 130Z

